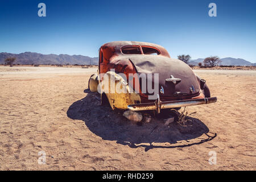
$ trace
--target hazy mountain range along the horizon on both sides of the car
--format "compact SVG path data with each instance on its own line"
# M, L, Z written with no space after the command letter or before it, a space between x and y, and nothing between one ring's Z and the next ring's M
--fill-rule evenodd
M36 52L23 52L19 54L15 53L0 53L0 64L5 64L5 58L16 57L14 64L79 64L79 65L97 65L98 57L88 57L82 55L43 55L42 53ZM241 66L256 66L256 63L251 63L244 59L236 59L233 57L225 57L221 59L222 63L220 65L241 65ZM196 60L190 60L189 64L198 65L198 63L203 63L204 59L199 58Z

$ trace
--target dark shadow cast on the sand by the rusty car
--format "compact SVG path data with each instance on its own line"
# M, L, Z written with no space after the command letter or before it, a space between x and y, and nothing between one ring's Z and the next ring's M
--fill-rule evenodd
M123 117L121 110L112 110L108 105L101 106L98 94L88 90L85 93L88 93L86 97L69 106L67 115L71 119L84 121L90 131L104 140L114 140L131 148L144 147L148 151L151 148L188 147L216 137L216 134L209 135L209 129L203 122L192 117L184 126L178 123L165 126L163 119L157 118L138 126Z

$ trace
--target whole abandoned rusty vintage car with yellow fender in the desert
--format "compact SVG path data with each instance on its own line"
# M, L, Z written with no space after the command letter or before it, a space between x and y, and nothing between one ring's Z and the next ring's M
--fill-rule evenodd
M141 75L147 86L154 85L156 94L148 88L143 89ZM122 88L127 87L129 92L106 92L106 88L111 88L111 82L114 86L119 83ZM196 76L189 65L171 58L162 46L146 42L117 41L101 46L98 75L89 80L90 90L95 92L96 87L100 87L101 100L106 96L112 109L155 109L160 113L161 109L209 104L217 100L210 97L205 80Z

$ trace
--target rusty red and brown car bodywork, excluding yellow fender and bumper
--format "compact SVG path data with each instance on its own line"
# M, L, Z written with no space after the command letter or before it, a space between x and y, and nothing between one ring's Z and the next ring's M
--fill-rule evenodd
M122 48L136 47L140 54L125 54ZM154 48L158 55L146 55L143 49ZM133 48L131 48L133 49ZM180 101L204 98L204 90L200 88L202 82L198 80L192 69L183 61L173 59L162 46L146 42L117 41L106 43L100 48L99 73L107 73L115 69L115 73L124 73L129 80L129 73L134 74L132 83L135 92L139 93L141 103L149 103L149 94L143 93L136 73L158 73L159 74L159 98L162 101ZM168 81L179 80L177 82ZM99 82L102 77L99 76ZM154 80L148 80L154 82ZM206 85L206 84L205 84ZM208 88L204 86L204 88ZM136 90L137 89L137 90ZM160 89L161 92L160 92ZM164 90L164 92L163 92ZM208 92L209 96L209 92ZM113 97L113 96L112 96Z

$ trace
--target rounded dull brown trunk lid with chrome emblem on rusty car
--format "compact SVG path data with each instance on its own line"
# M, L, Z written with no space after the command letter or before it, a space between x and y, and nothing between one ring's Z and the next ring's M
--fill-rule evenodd
M200 85L197 81L195 73L183 61L172 59L170 57L160 55L129 55L123 56L123 59L128 59L137 69L137 73L152 73L152 78L147 77L147 82L151 81L154 85L154 73L159 74L159 95L161 96L193 96L200 91ZM167 78L180 78L178 84L166 81ZM160 92L160 89L163 92ZM148 94L148 93L147 93Z

